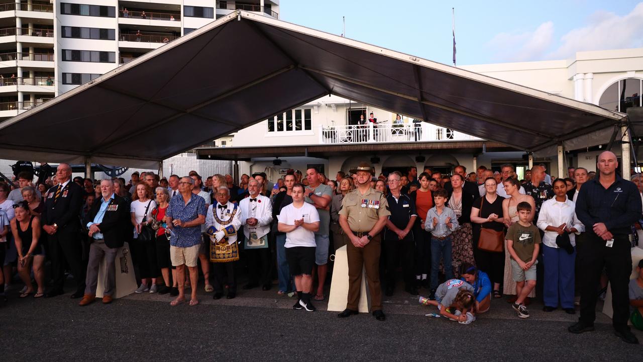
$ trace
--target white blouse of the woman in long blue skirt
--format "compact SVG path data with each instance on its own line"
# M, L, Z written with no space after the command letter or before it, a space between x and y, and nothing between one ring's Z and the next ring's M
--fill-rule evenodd
M565 202L558 202L555 197L543 202L543 205L540 207L540 213L538 214L538 222L536 223L538 229L545 231L549 225L558 227L563 223L565 223L569 229L573 227L576 228L576 233L569 234L569 241L575 246L575 234L580 234L585 231L585 225L576 218L574 202L567 198L567 196L565 196ZM556 236L558 236L556 231L545 231L543 244L548 247L557 248Z

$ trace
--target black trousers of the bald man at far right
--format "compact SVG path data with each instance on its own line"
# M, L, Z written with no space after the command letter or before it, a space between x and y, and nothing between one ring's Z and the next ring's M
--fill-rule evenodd
M581 317L579 321L593 324L596 319L597 286L603 267L611 286L612 324L615 330L629 330L629 274L632 272L631 244L628 235L614 235L612 247L606 246L593 231L587 231L583 243L577 245L581 272Z

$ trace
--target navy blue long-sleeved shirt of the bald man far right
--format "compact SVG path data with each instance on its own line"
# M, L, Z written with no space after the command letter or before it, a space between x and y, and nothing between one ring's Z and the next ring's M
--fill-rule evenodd
M585 182L576 198L576 216L593 233L593 225L602 222L613 235L628 235L631 225L641 218L641 197L637 186L620 176L607 189L597 175Z

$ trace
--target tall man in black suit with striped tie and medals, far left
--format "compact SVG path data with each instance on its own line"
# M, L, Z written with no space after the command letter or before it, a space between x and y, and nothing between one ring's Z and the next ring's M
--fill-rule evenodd
M63 294L65 281L64 265L67 261L76 280L76 292L71 298L80 298L85 291L85 265L82 262L80 243L80 209L84 190L71 182L71 166L60 164L56 169L57 186L47 193L42 211L42 230L47 233L51 258L51 278L53 287L45 293L45 298Z

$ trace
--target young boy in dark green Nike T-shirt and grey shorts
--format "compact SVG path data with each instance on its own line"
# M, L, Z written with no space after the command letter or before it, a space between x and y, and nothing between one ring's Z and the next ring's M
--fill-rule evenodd
M520 318L529 318L529 311L523 304L525 298L536 287L536 264L540 233L536 225L529 221L532 213L529 202L521 202L516 207L518 222L511 224L507 231L507 250L511 255L511 274L516 281L516 295L518 299L512 307L518 312Z

